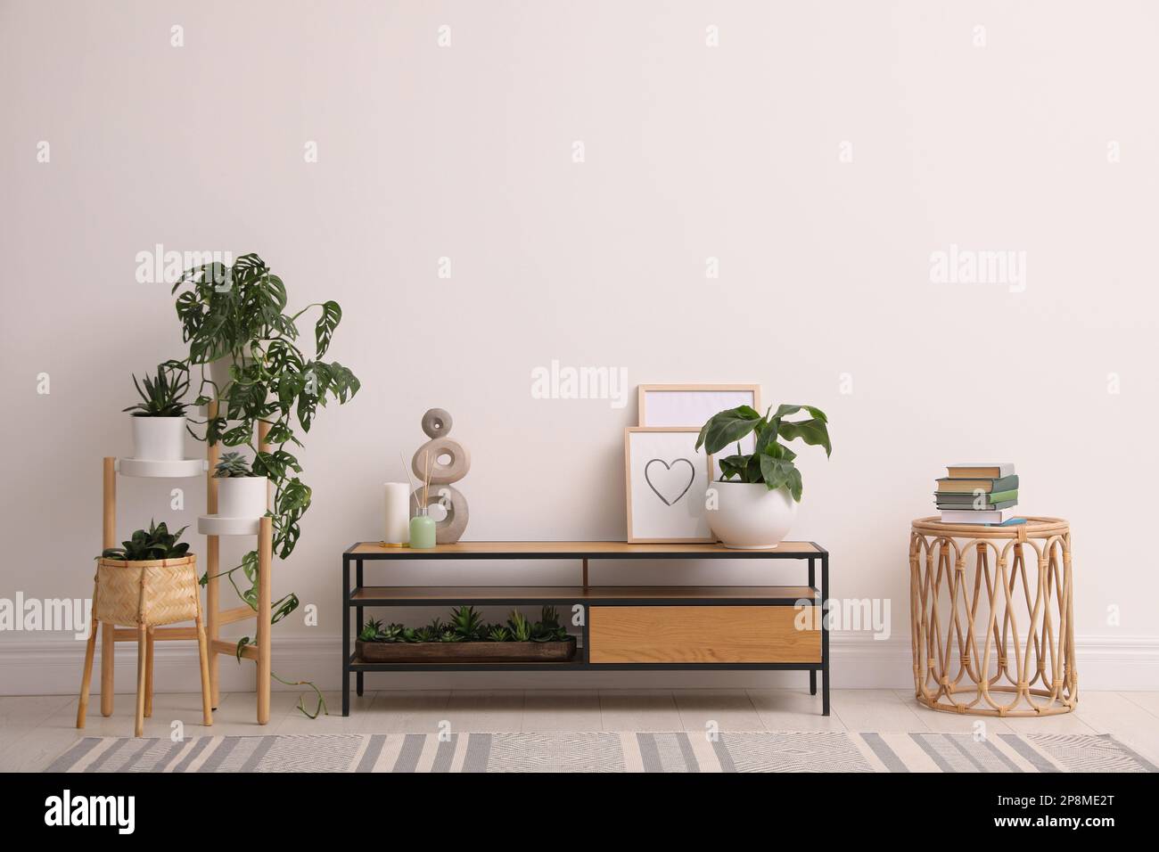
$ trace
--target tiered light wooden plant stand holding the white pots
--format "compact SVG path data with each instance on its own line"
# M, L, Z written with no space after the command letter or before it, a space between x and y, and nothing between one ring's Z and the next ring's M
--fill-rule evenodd
M211 403L211 416L216 413L216 403ZM258 428L260 447L269 449L265 443L265 431ZM206 537L205 569L209 580L205 584L205 633L209 641L209 670L211 704L217 709L220 702L219 660L218 655L234 657L236 646L224 641L220 636L223 625L257 618L257 643L242 648L241 656L257 663L257 723L270 721L270 616L271 584L270 574L274 560L274 527L269 517L245 519L217 518L217 479L213 468L218 463L220 447L206 444L206 461L202 459L184 459L181 461L145 461L140 459L104 458L104 523L103 548L117 546L117 474L122 476L181 478L206 476L206 515L198 518L198 531ZM206 464L207 463L207 464ZM257 611L250 606L220 609L220 536L256 536L257 537ZM101 715L112 715L114 696L114 648L116 642L137 641L138 634L132 628L117 628L111 624L101 625ZM154 641L197 640L195 627L155 627L146 634L145 647L145 716L153 713L153 643ZM82 715L78 714L78 728Z

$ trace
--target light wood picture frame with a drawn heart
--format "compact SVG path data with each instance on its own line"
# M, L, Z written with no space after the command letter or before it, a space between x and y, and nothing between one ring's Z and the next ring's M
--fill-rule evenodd
M714 463L702 449L697 452L699 434L699 427L624 430L629 544L716 540L705 508Z

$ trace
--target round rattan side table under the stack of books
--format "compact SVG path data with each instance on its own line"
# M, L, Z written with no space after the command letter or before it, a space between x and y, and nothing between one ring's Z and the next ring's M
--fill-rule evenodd
M913 522L910 618L919 704L979 716L1045 716L1078 704L1071 529Z

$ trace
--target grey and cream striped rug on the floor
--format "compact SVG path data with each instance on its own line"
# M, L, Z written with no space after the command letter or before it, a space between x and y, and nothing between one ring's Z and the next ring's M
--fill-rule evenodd
M844 731L86 737L49 772L1154 772L1109 734Z

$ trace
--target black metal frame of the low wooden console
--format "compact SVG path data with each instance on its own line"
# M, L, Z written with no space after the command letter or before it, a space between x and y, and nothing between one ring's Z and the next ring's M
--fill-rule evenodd
M462 553L449 555L438 551L411 551L400 547L396 551L384 551L382 553L353 553L351 545L342 554L342 715L350 715L350 675L356 676L356 690L363 694L364 673L367 671L664 671L664 670L758 670L758 671L808 671L809 693L817 694L817 672L821 671L821 706L822 715L829 715L829 619L825 617L829 602L829 551L821 547L816 541L810 541L816 553L790 553L787 551L712 551L706 553L690 554L687 552L672 553L592 553L592 552L553 552L541 553ZM816 594L817 577L816 563L821 562L821 598L817 606L821 606L821 662L819 663L591 663L589 654L591 645L588 641L589 613L588 609L596 606L790 606L797 603L796 598L641 598L626 596L622 598L599 598L598 600L584 600L583 619L583 647L581 658L567 663L360 663L355 662L356 656L350 647L350 616L355 611L358 629L363 628L363 610L367 606L445 606L453 604L479 604L486 606L517 606L529 603L580 603L574 596L561 594L559 597L551 595L535 597L512 598L471 598L469 596L453 595L446 598L424 598L415 600L413 598L358 598L353 596L363 589L363 562L369 561L424 561L424 560L496 560L496 559L527 559L527 560L602 560L602 559L773 559L773 560L807 560L809 562L809 588ZM350 587L350 563L355 563L355 587ZM373 587L372 587L373 588ZM457 587L447 587L453 589ZM501 589L502 587L490 587ZM549 589L552 587L544 587ZM574 589L577 587L563 587ZM598 587L602 589L614 589L615 587ZM726 590L729 587L713 587Z

